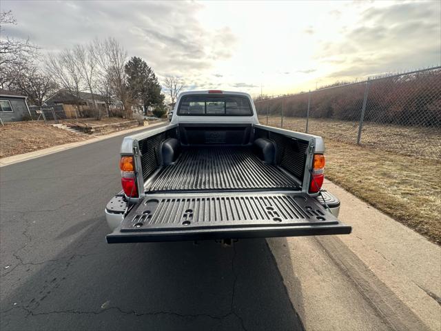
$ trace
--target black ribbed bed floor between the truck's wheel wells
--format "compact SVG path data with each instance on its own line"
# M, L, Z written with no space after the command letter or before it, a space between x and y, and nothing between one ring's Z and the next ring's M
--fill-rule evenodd
M276 165L249 148L185 148L158 174L150 191L297 188Z

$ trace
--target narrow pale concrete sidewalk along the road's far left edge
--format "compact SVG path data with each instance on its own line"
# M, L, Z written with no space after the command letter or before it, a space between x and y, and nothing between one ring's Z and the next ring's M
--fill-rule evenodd
M77 141L75 143L65 143L65 144L59 145L59 146L53 146L53 147L50 147L50 148L44 148L43 150L36 150L34 152L13 155L12 157L3 157L3 159L0 159L0 168L4 167L6 165L11 165L11 164L14 164L14 163L23 162L23 161L27 161L27 160L30 160L30 159L35 159L37 157L43 157L45 155L53 154L53 153L56 153L56 152L61 152L61 150L68 150L70 148L87 145L88 143L95 143L96 141L101 141L101 140L104 140L104 139L109 139L109 138L112 138L112 137L120 136L122 134L130 134L132 132L138 132L138 131L141 131L141 130L149 130L150 128L156 128L158 126L164 125L165 123L168 123L168 122L154 123L154 124L152 124L150 126L140 126L138 128L132 128L132 129L128 129L128 130L121 130L119 132L114 132L114 133L111 133L111 134L105 134L103 136L94 137L92 139L88 139L88 140L85 140L85 141Z

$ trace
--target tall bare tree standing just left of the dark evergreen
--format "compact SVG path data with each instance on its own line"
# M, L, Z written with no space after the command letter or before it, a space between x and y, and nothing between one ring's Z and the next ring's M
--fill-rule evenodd
M125 61L127 61L127 51L119 41L112 37L103 41L95 39L93 48L101 71L101 79L110 83L114 96L123 103L123 108L127 116L130 117L132 110L124 68Z

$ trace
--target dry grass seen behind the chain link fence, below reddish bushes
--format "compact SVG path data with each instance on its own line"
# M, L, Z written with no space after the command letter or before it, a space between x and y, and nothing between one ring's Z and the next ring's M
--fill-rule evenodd
M260 117L266 123L266 117ZM269 117L269 126L280 128L280 117ZM283 128L305 132L306 119L285 117ZM309 119L309 133L345 143L356 143L358 123L331 119ZM441 130L413 128L366 122L362 130L361 145L398 154L427 159L441 159Z

